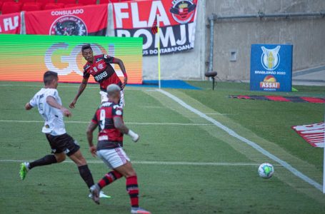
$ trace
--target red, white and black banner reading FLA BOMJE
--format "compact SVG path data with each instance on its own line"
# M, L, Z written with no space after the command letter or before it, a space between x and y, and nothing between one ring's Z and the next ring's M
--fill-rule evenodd
M158 35L151 27L159 14L161 54L194 48L198 0L128 1L114 3L115 36L144 38L144 56L158 54Z

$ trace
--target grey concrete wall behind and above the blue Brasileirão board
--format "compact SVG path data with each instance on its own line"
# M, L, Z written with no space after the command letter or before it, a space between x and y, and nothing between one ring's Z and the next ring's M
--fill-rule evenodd
M218 16L325 11L324 0L206 0L205 21ZM206 22L207 24L207 22ZM204 26L204 25L202 25ZM205 58L209 60L209 28ZM251 44L294 44L294 71L325 65L325 18L268 18L216 21L214 24L214 70L222 80L249 80ZM198 42L203 40L199 39ZM230 61L236 51L236 61ZM205 67L207 69L207 66Z

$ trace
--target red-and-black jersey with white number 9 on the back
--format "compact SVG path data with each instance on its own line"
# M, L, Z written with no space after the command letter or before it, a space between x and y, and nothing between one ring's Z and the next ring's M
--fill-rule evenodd
M99 107L91 120L99 126L97 150L123 146L123 133L114 126L114 117L121 117L123 108L116 103L106 102Z

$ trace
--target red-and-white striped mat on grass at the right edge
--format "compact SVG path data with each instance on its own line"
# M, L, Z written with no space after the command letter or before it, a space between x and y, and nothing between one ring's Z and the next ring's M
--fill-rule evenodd
M304 140L307 141L311 146L324 147L324 123L292 126L291 128L294 129L294 131L296 131L301 138L304 138Z

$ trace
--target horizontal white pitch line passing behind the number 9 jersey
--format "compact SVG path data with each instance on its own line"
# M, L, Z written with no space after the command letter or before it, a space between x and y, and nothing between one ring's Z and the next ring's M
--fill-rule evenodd
M0 120L0 123L44 123L44 121L6 121ZM90 121L64 121L64 123L90 123ZM126 124L135 125L157 125L157 126L214 126L209 123L137 123L137 122L125 122Z

